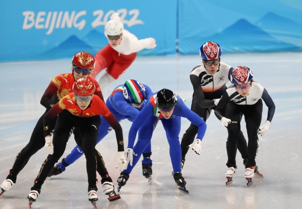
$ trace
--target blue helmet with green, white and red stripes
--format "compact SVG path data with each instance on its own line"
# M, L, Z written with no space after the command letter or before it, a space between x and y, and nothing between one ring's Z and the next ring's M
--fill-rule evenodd
M138 81L129 79L125 82L123 94L130 104L141 104L146 98L145 87Z

